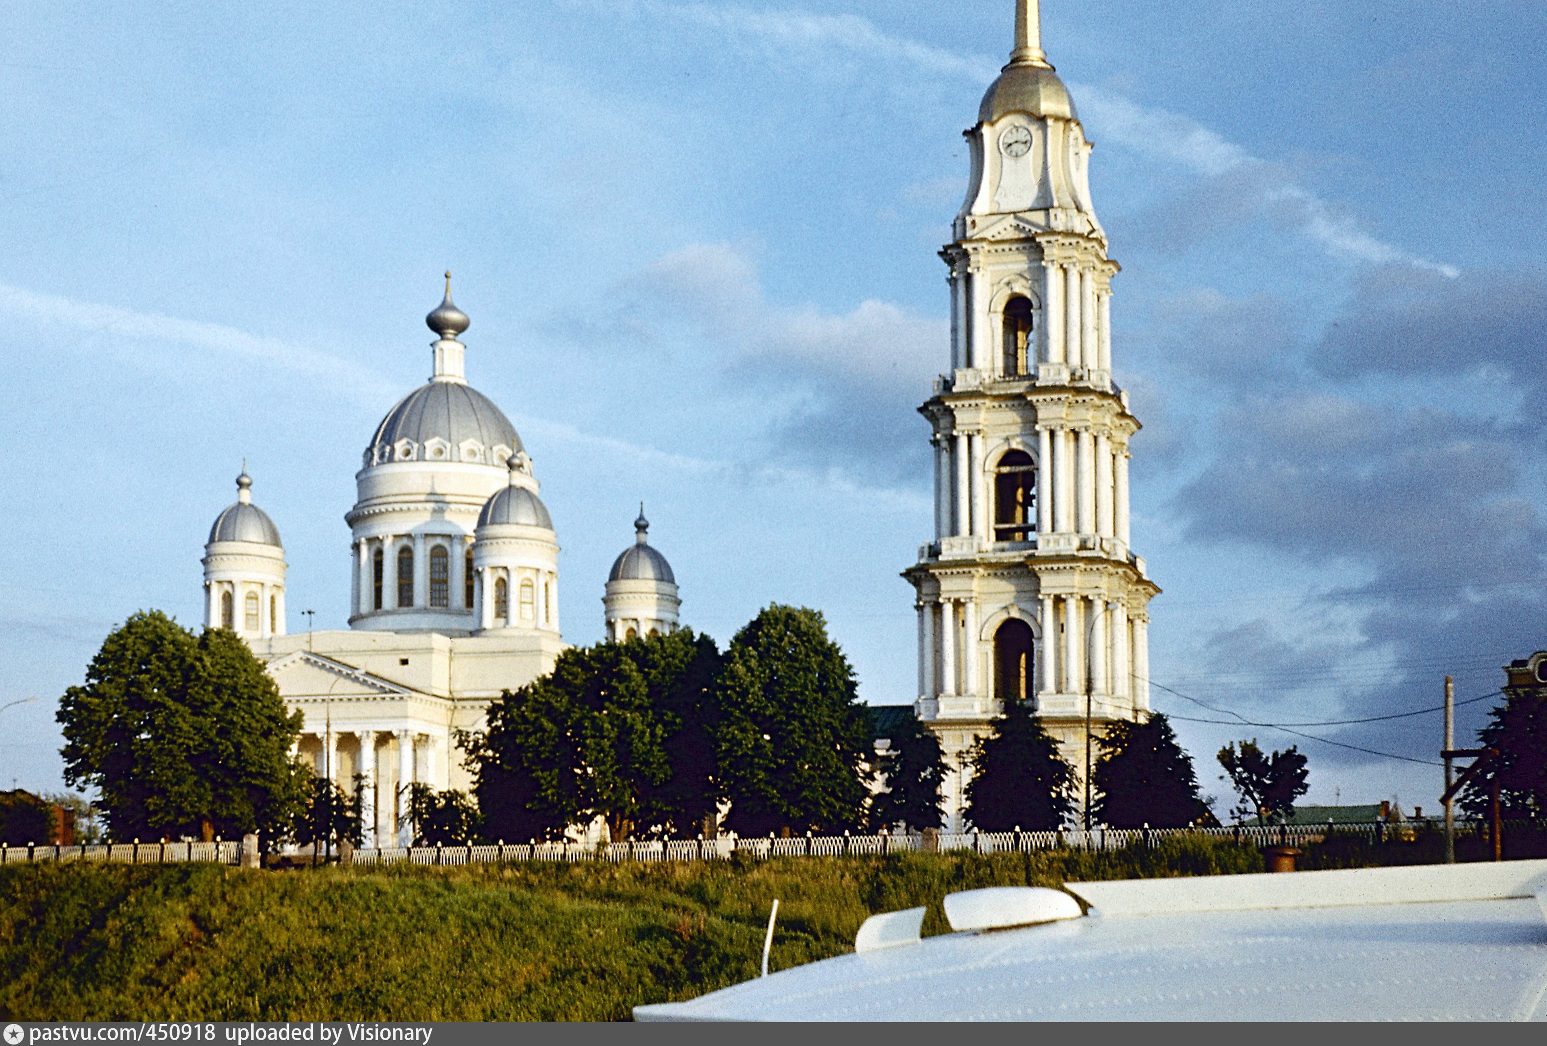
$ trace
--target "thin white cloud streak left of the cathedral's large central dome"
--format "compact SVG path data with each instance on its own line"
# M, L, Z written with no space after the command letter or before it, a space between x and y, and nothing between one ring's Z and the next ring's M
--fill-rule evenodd
M96 337L128 337L161 345L175 344L201 350L210 356L244 359L278 367L353 391L367 402L390 396L394 384L368 367L297 345L278 337L265 337L223 323L206 323L161 313L77 302L57 294L43 294L20 286L0 285L0 313L48 328L70 328Z

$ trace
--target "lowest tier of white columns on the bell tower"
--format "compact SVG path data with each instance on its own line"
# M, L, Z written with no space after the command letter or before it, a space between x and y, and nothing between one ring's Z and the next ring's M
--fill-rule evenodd
M1041 596L1035 650L1036 692L1134 698L1149 707L1148 619L1131 617L1120 600L1103 596ZM916 603L919 614L919 693L924 698L995 696L984 679L993 636L982 636L978 602L942 596ZM1047 638L1061 636L1052 644Z

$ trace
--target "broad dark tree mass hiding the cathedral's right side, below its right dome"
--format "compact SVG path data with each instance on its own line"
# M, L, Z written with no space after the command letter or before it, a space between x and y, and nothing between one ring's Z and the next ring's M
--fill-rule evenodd
M464 737L486 831L551 839L603 817L613 839L693 834L718 802L710 687L719 651L681 630L558 656Z

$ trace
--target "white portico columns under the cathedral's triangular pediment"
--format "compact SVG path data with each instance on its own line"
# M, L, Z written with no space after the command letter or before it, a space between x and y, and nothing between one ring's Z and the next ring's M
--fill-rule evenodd
M345 791L350 791L350 778L353 775L342 774L340 767L343 761L340 757L348 755L343 740L351 735L359 744L353 763L354 774L360 775L360 842L365 846L390 845L387 837L379 839L382 820L385 820L388 836L396 834L396 845L407 846L413 842L408 837L412 831L408 823L408 786L422 783L436 791L449 788L449 781L446 780L449 766L441 758L442 750L447 747L447 738L407 729L303 733L300 740L309 738L322 749L317 755L317 777L328 777ZM379 808L377 784L384 783L382 771L390 767L390 763L382 763L382 757L388 755L393 741L398 744L394 797ZM297 741L297 747L299 744L300 741Z

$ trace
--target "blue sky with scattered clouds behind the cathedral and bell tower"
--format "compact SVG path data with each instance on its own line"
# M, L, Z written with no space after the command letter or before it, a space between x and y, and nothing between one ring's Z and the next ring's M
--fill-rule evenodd
M0 706L37 701L0 786L63 786L57 698L116 624L200 624L243 458L289 630L343 627L353 475L446 269L566 641L644 501L685 624L815 607L863 699L911 701L936 251L1013 6L9 5ZM1451 675L1465 744L1547 647L1542 39L1515 0L1043 3L1123 265L1153 704L1221 808L1241 738L1299 746L1309 802L1434 808L1439 715L1378 716Z

